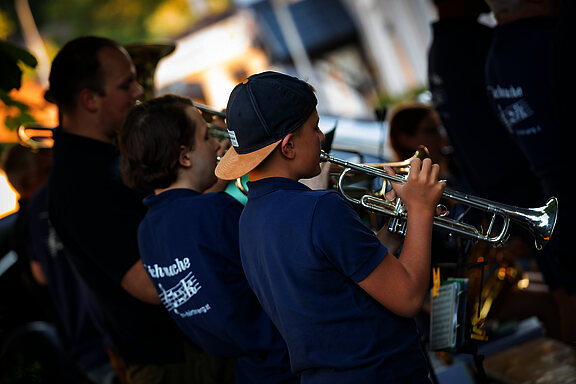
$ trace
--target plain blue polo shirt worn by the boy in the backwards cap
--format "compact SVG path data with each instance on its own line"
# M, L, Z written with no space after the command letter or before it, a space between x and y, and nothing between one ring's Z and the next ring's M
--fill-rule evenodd
M290 179L248 187L242 264L301 382L428 382L414 320L390 312L357 284L387 249L354 209L335 191Z

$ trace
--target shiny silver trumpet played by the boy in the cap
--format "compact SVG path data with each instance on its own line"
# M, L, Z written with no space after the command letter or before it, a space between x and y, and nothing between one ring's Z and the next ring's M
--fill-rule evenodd
M415 154L415 156L417 156L417 154ZM390 220L388 229L401 235L406 234L407 213L400 199L389 202L383 197L369 193L359 198L352 197L346 193L343 186L344 177L350 170L361 172L372 177L382 178L387 182L396 183L405 182L405 175L389 175L383 169L351 163L335 158L324 151L320 154L320 161L327 161L344 168L338 178L337 187L346 200L367 208L370 211L391 216L392 219ZM405 164L405 162L402 162L402 164ZM556 225L558 215L558 199L556 197L551 197L544 206L539 208L515 207L448 189L443 192L442 197L453 203L463 204L469 209L479 209L492 216L486 229L479 228L457 219L445 217L444 214L447 213L446 207L439 204L440 211L444 214L434 217L434 227L462 238L485 241L493 246L501 246L508 239L507 234L510 223L514 222L529 231L534 238L535 248L541 250L550 240L554 226ZM499 229L495 230L498 224L500 224Z

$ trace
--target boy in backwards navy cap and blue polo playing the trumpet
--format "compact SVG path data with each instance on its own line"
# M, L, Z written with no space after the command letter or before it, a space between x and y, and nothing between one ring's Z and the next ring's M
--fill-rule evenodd
M298 182L320 173L316 105L309 84L276 72L250 76L230 95L233 147L216 175L249 175L240 218L248 281L302 383L429 382L411 317L429 287L438 165L414 160L408 180L393 186L409 212L396 258L382 244L385 229L375 235L336 191Z

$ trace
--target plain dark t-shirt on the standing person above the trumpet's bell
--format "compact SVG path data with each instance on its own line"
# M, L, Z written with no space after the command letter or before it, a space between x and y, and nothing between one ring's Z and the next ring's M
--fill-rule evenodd
M461 176L471 187L468 192L522 207L540 204L538 180L486 96L484 68L492 28L472 19L446 18L432 24L432 33L428 51L432 100Z

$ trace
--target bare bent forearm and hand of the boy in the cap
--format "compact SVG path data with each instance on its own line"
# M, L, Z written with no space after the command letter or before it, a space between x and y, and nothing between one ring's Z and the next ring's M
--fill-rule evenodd
M430 252L435 207L444 190L438 165L412 162L405 183L393 185L408 212L406 237L398 258L388 253L358 284L392 312L411 317L422 306L429 286Z

